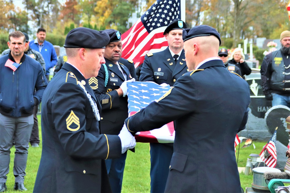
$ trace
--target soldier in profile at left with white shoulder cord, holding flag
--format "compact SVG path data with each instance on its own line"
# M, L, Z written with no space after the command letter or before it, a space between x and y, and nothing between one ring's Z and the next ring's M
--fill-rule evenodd
M129 132L101 134L101 104L86 80L98 75L109 41L106 32L85 27L68 33L67 62L42 100L42 154L33 192L112 192L104 160L120 157L135 139Z

